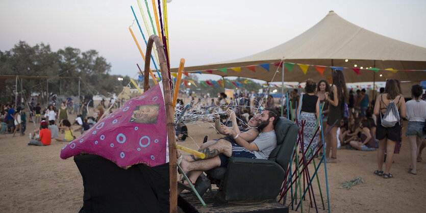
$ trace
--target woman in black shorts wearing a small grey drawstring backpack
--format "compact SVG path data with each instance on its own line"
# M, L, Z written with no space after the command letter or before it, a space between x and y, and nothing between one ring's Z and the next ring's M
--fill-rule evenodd
M385 93L378 96L374 105L374 115L377 116L376 138L379 140L379 150L377 152L378 170L375 175L383 178L392 178L390 172L393 161L395 144L401 141L400 117L406 117L406 104L404 96L401 94L397 81L388 79L386 81ZM387 153L385 170L383 171L383 161Z

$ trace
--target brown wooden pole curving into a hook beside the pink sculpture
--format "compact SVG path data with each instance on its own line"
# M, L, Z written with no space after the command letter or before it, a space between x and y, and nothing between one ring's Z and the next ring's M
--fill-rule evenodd
M168 138L168 149L169 149L169 183L170 183L170 212L178 212L178 182L177 182L177 163L176 163L176 143L174 142L174 115L173 108L171 106L171 88L169 69L167 67L166 55L164 54L164 47L160 41L160 38L156 35L149 37L148 43L146 44L146 56L151 56L153 44L156 44L158 57L160 61L160 69L163 82L164 91L164 105L166 107L166 119L167 119L167 138ZM149 63L151 58L146 57L145 61L145 73L149 71ZM145 78L146 79L146 78Z

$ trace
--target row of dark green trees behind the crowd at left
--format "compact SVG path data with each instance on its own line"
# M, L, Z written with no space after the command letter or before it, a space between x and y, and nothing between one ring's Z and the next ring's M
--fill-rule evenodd
M49 44L30 46L19 41L10 50L0 50L1 75L52 76L55 78L19 79L18 93L24 96L38 93L45 96L54 94L78 96L78 78L81 78L81 95L105 95L119 93L122 86L129 83L129 76L111 75L111 64L99 56L96 50L81 51L78 48L65 47L52 51ZM123 77L123 81L117 81ZM15 79L0 78L2 102L10 101L15 95ZM48 93L46 93L48 91Z

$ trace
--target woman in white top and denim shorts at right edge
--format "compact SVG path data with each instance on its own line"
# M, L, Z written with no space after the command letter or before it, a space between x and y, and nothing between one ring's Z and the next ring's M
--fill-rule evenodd
M411 165L408 173L413 175L417 174L416 161L418 159L418 148L423 139L426 138L423 131L426 121L426 101L420 98L422 92L423 88L420 85L414 85L411 88L413 99L407 101L407 119L409 122L406 136L410 142L411 151Z

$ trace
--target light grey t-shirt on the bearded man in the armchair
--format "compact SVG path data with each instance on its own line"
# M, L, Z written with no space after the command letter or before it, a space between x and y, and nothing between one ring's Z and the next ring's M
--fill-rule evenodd
M277 136L275 130L268 132L260 132L259 136L253 141L259 148L259 151L255 151L256 158L268 159L269 154L272 150L277 147Z

